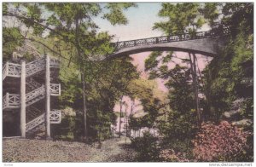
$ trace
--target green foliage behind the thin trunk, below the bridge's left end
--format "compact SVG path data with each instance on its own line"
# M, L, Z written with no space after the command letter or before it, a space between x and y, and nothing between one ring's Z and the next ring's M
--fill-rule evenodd
M110 124L115 124L116 120L113 107L120 95L137 94L137 90L131 87L131 81L138 78L138 73L129 60L129 57L124 57L108 62L87 62L85 81L90 83L86 86L89 134L97 141L111 135ZM64 90L61 93L61 104L82 109L82 89L79 89L81 81L78 74L74 65L69 67L69 71L62 69ZM143 95L142 90L140 92ZM83 116L79 113L79 117ZM78 134L81 133L80 130Z

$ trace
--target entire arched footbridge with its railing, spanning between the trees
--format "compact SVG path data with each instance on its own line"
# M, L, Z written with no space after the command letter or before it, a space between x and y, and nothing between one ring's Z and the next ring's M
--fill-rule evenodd
M180 35L150 37L131 41L113 43L116 51L108 58L122 55L131 55L144 51L185 51L202 55L214 56L218 50L224 46L226 35L230 33L229 29L222 31L207 31L184 33Z

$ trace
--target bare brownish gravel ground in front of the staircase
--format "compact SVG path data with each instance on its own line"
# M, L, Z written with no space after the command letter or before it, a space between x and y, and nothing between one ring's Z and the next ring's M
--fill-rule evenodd
M4 139L3 162L131 162L136 152L125 137L98 144L81 142Z

